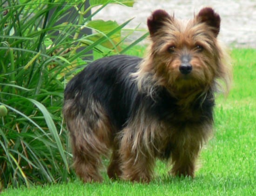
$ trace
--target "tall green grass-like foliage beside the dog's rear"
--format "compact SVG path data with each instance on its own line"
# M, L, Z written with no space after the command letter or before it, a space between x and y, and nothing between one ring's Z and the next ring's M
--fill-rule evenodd
M132 6L133 0L83 2L0 1L0 105L8 111L0 117L0 190L74 177L61 116L67 79L92 60L90 51L122 53L145 37L123 47L130 20L92 20L108 3Z

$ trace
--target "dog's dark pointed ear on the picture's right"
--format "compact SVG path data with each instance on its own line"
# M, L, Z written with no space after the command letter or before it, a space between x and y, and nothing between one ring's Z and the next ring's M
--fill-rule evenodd
M215 34L215 37L220 32L221 18L211 7L205 7L200 10L196 16L200 22L206 23L211 27L211 31Z

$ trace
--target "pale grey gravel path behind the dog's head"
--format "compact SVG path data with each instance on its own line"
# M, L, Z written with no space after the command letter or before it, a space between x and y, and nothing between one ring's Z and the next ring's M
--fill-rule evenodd
M94 19L115 20L121 24L135 17L127 28L141 24L141 29L147 29L147 18L155 9L175 13L179 19L191 19L194 12L198 13L204 6L211 6L220 14L222 42L232 47L256 48L256 0L136 0L134 7L108 5Z

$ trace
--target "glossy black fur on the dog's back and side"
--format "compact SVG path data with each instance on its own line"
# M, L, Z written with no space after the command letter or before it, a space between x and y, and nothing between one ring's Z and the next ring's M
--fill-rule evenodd
M73 104L69 114L65 113L66 119L72 113L84 114L86 108L97 102L104 107L111 122L120 129L138 93L130 74L137 70L140 61L139 57L116 55L89 64L67 84L65 103L73 101Z

